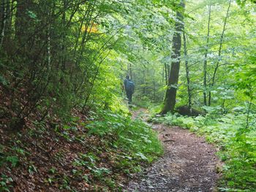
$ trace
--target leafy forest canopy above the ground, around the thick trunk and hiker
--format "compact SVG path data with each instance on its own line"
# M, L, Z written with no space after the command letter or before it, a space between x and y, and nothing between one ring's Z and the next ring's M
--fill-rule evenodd
M19 95L10 99L17 118L39 106L42 114L59 107L86 111L98 102L111 106L125 74L135 81L138 99L157 103L168 86L178 88L178 105L222 110L246 100L241 92L254 92L253 85L245 88L252 78L241 73L254 71L254 4L2 1L1 10L1 83ZM179 82L167 85L176 59L176 12L184 18L181 70Z

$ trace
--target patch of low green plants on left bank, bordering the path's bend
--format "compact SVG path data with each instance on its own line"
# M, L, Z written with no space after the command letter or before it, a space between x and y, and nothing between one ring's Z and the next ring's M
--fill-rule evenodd
M162 145L157 134L141 120L102 111L94 116L86 128L89 128L89 134L102 138L112 137L114 147L131 153L130 157L124 159L151 162L162 154Z

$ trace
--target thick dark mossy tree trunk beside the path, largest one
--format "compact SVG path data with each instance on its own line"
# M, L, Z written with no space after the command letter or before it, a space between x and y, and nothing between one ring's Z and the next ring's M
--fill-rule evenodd
M180 7L177 11L177 20L175 24L175 33L173 34L173 54L172 64L170 66L170 74L168 78L167 90L165 93L164 107L161 114L173 112L176 104L176 93L178 88L178 74L180 69L180 56L181 56L181 34L184 29L184 0L181 0Z

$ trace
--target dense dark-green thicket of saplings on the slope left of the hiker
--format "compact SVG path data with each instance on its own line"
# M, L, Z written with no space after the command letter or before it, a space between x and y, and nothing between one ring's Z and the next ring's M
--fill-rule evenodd
M3 5L8 21L1 37L0 93L10 104L4 108L12 112L9 121L33 112L39 119L51 118L51 112L67 120L74 107L114 109L123 64L116 63L113 50L120 26L108 28L108 18L124 11L122 2L31 0L8 6Z

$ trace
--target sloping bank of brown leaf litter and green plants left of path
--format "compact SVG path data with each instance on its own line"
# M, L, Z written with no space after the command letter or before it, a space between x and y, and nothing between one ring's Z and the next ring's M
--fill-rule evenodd
M0 191L121 191L127 176L162 154L150 127L110 111L69 123L0 128Z

